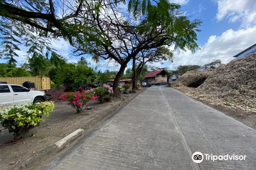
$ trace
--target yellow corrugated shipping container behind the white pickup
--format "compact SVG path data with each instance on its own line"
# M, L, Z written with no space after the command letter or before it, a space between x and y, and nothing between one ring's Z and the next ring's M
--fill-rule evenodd
M7 84L18 84L22 86L22 83L29 81L35 83L35 87L39 89L50 89L51 80L49 77L0 77L1 82L7 82Z

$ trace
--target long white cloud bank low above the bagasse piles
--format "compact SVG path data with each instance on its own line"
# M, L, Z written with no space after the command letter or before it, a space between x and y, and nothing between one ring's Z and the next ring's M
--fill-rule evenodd
M174 63L165 65L176 67L178 65L204 65L212 59L218 58L222 63L228 63L233 56L256 43L256 25L234 31L232 29L222 33L219 37L212 35L195 54L181 51L175 52ZM173 48L173 47L172 47Z

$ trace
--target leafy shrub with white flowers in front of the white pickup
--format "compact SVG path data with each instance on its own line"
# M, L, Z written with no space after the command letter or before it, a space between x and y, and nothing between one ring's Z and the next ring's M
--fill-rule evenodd
M4 105L0 107L0 121L9 133L14 132L13 141L22 138L28 131L38 126L42 116L49 116L54 109L54 102L20 103L18 105Z

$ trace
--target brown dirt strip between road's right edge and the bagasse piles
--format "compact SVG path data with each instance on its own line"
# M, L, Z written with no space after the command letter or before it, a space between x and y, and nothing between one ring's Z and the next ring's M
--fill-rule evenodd
M173 87L173 88L184 93L184 94L195 89L195 88L184 87L184 86L183 87ZM220 111L220 112L226 114L227 116L230 116L230 117L234 118L235 120L256 130L256 113L255 112L247 112L247 111L243 111L241 109L232 109L232 108L228 108L228 107L225 107L222 105L212 105L210 103L207 103L207 102L199 100L199 99L194 99L194 100L200 101L200 102L206 104L207 106L212 107L213 109L216 109L217 111ZM235 116L235 115L241 115L241 116Z

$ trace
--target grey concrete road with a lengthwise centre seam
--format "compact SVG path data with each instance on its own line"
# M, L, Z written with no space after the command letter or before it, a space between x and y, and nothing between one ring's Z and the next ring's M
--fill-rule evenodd
M193 162L192 154L246 155ZM256 131L166 86L150 87L41 170L256 169Z

